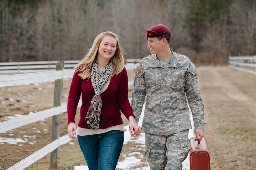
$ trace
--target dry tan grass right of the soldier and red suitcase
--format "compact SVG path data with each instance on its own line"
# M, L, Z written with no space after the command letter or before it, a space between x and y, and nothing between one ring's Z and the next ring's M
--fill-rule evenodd
M198 71L212 169L256 168L256 76Z

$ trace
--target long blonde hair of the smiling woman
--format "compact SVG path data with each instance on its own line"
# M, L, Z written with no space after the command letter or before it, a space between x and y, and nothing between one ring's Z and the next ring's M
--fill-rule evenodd
M89 49L87 54L84 56L84 58L81 60L80 63L77 64L75 67L75 72L79 71L79 76L82 79L88 79L91 77L91 71L92 71L92 63L96 60L97 54L98 54L98 48L100 45L100 42L105 36L114 37L116 39L116 51L113 57L110 59L112 61L112 71L110 74L110 77L113 77L115 74L119 74L124 69L124 57L122 54L122 48L119 44L119 37L115 33L111 31L106 31L103 33L100 33L96 36L94 39L94 42L92 44L92 47ZM109 61L109 62L110 62Z

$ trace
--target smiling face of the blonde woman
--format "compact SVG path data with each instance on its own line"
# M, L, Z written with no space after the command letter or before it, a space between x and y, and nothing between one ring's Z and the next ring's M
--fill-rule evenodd
M116 51L116 39L114 37L105 36L100 42L98 48L98 60L109 61Z

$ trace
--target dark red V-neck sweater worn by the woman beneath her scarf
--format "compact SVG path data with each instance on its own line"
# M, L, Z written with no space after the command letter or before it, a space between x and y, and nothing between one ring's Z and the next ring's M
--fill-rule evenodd
M78 126L90 129L85 117L91 105L92 97L95 95L94 88L91 78L88 80L81 79L78 76L78 72L76 72L74 73L68 95L68 123L75 123L76 109L81 93L82 106L80 108ZM120 110L127 119L129 116L134 116L128 100L128 76L125 67L121 73L111 78L107 89L101 94L101 100L102 114L100 116L99 129L123 124Z

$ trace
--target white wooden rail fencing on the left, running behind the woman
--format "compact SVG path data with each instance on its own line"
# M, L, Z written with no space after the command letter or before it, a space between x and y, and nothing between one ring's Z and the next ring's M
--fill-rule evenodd
M131 59L129 60L130 63L126 63L125 67L127 70L134 69L136 66L136 61L140 61L140 59ZM19 66L10 66L7 63L2 63L0 65L5 65L5 70L2 73L7 75L0 75L0 87L6 87L6 86L15 86L15 85L26 85L31 83L38 83L38 82L45 82L45 81L52 81L55 80L55 87L56 87L56 81L61 80L63 78L72 78L74 74L73 67L79 62L79 61L65 61L67 64L65 64L65 67L67 66L68 69L64 68L62 70L56 70L53 71L52 68L55 68L55 65L53 66L52 63L57 63L57 61L51 61L51 62L19 62ZM133 62L133 63L131 63ZM14 62L17 64L17 62ZM11 64L14 64L11 63ZM72 64L71 64L72 63ZM24 67L20 67L20 66ZM25 67L26 65L26 67ZM44 70L44 72L37 72L39 71L36 66L39 66L40 68ZM49 66L49 67L48 67ZM0 67L1 68L1 67ZM20 70L14 70L13 68L19 68ZM33 69L35 68L35 69ZM72 68L72 69L71 69ZM13 69L13 70L8 70ZM24 69L24 70L23 70ZM40 70L41 70L40 69ZM47 71L48 70L48 71ZM42 70L41 70L42 71ZM34 73L25 73L25 74L11 74L11 73L23 73L23 72L34 72ZM131 82L129 82L131 85ZM129 85L128 83L128 85ZM61 86L61 92L62 92L62 86ZM55 93L55 92L54 92ZM60 95L61 96L61 95ZM55 96L54 96L55 98ZM54 99L55 100L55 99ZM60 99L61 101L61 99ZM81 106L81 101L78 103L78 107ZM8 130L12 130L39 120L42 120L44 118L48 117L54 117L56 115L60 115L61 113L67 112L67 104L60 104L60 106L53 107L47 110L39 111L33 114L24 115L18 118L14 118L11 120L7 120L4 122L0 122L0 133L6 132ZM53 129L53 131L58 131L59 129ZM7 170L22 170L28 167L29 165L33 164L37 160L41 159L45 155L51 152L51 160L52 160L52 152L54 152L60 145L66 144L71 139L68 137L68 135L64 135L62 137L57 137L56 140L52 141L50 144L44 146L40 150L36 151L35 153L31 154L27 158L21 160L20 162L16 163L15 165L9 167ZM57 161L57 160L55 160ZM56 162L55 162L56 163ZM57 166L57 164L56 164ZM50 163L51 168L51 163ZM57 167L53 167L57 168Z

